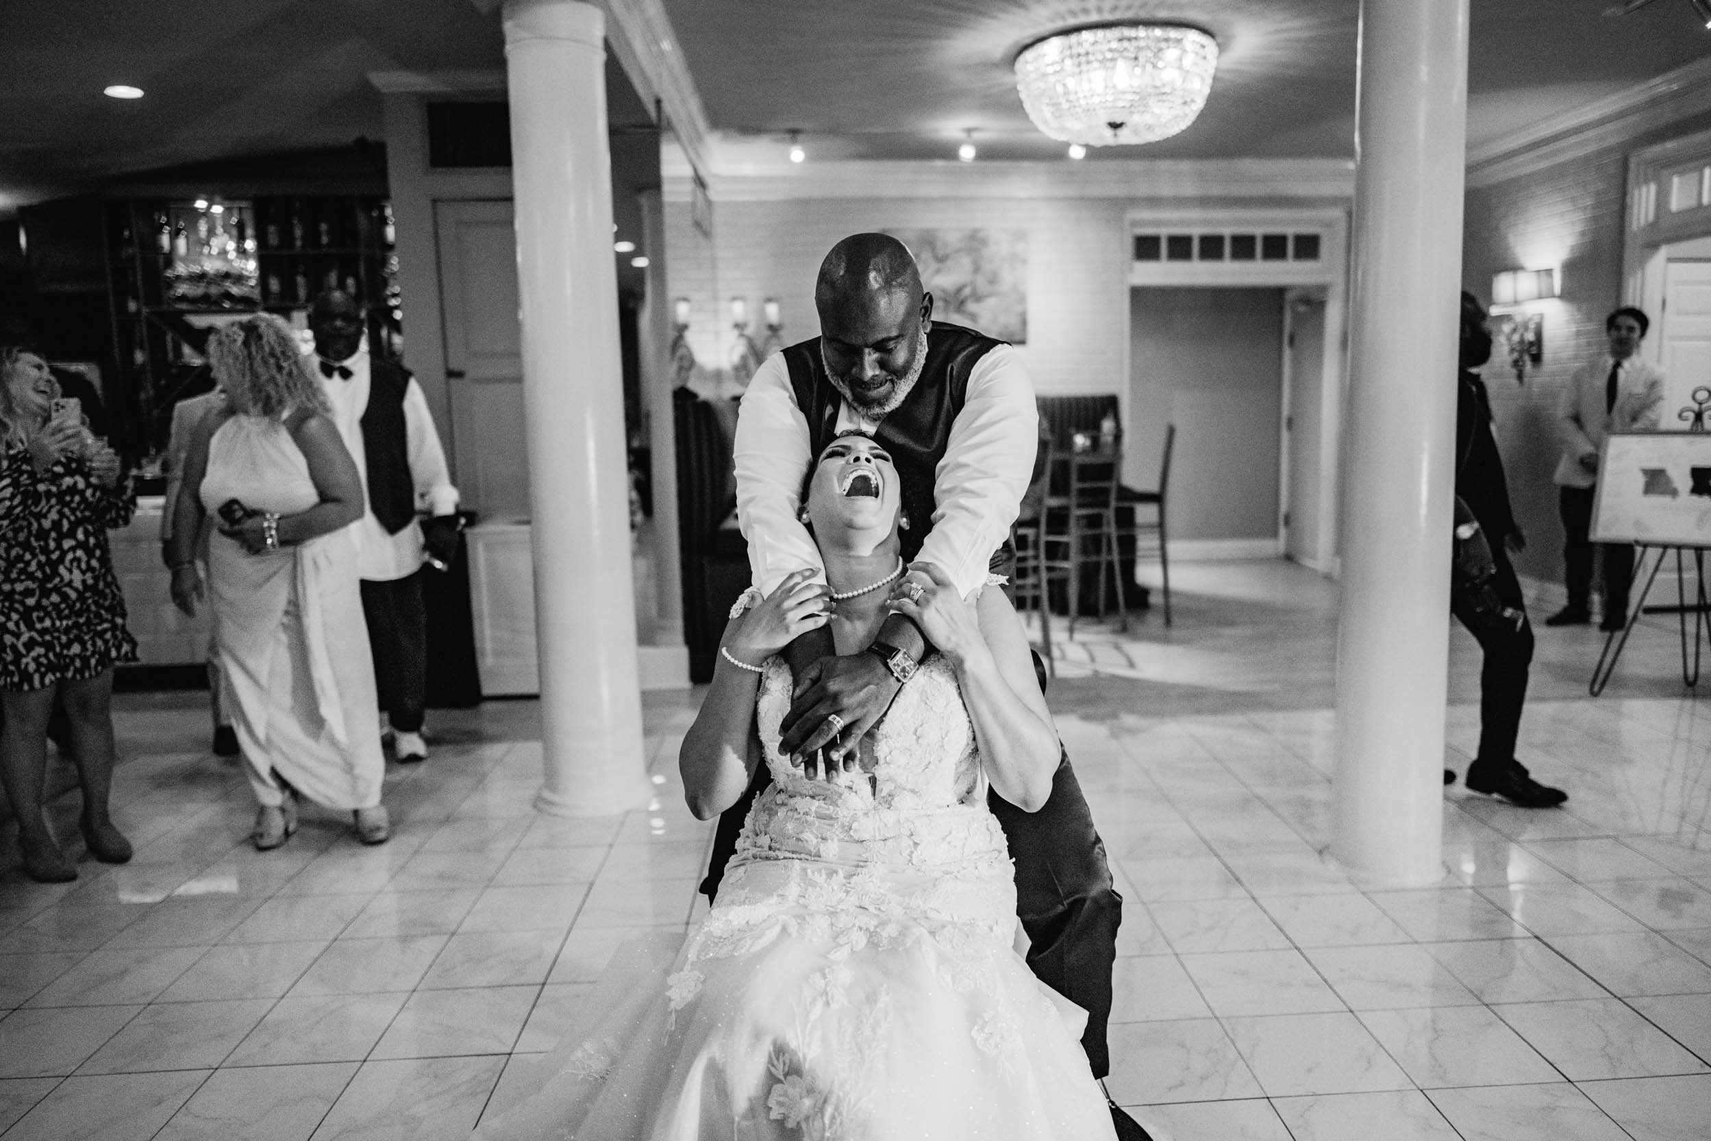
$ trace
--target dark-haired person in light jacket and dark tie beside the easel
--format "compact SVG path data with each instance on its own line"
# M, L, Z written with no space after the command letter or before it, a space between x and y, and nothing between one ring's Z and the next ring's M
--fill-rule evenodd
M1547 626L1576 626L1591 621L1593 501L1598 494L1598 453L1605 436L1619 431L1656 431L1663 405L1663 373L1639 359L1639 342L1651 320L1632 304L1605 318L1608 351L1588 361L1562 390L1557 414L1562 460L1555 484L1560 488L1562 585L1567 606L1545 619ZM1627 588L1634 578L1634 547L1603 544L1601 630L1627 623Z

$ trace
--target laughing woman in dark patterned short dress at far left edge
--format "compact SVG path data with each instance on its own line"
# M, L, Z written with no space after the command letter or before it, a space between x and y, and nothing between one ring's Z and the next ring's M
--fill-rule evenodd
M89 854L130 859L108 816L113 785L113 665L137 659L106 530L137 506L118 455L72 416L50 416L60 387L46 361L0 349L0 780L24 871L77 879L43 811L48 717L55 695L72 729Z

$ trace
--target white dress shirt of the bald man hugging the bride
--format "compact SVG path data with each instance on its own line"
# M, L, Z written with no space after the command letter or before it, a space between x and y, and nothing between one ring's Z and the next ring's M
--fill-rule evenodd
M1021 510L1039 448L1039 416L1033 381L1016 349L998 346L975 363L967 402L934 472L932 518L910 520L912 527L931 527L921 561L944 570L963 597L986 585L992 553L1009 537ZM862 417L849 402L838 409L838 431L876 428L878 421ZM797 520L802 479L814 457L782 354L768 358L743 393L732 452L737 523L748 539L755 585L772 594L785 575L804 566L823 582L820 551Z

